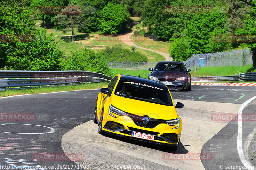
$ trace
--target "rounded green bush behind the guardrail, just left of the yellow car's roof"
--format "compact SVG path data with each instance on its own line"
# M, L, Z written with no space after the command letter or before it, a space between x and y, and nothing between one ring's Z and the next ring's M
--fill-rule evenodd
M94 53L92 49L84 48L73 52L71 56L63 60L64 70L83 70L111 75L107 63L101 53Z

